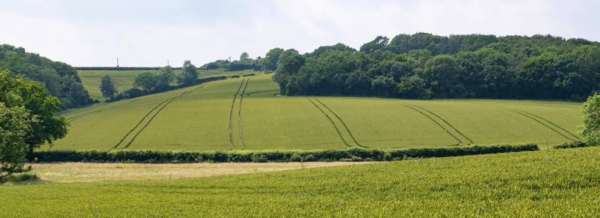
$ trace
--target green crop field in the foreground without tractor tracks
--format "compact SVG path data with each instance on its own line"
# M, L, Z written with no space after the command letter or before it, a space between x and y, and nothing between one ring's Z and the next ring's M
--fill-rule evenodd
M600 148L0 186L7 217L599 217Z

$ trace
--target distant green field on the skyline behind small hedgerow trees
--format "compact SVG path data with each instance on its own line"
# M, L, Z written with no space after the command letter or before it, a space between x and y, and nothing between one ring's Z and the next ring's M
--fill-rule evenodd
M181 70L173 70L173 72L178 73ZM100 78L106 74L115 75L116 78L121 81L123 84L122 87L119 88L119 91L127 90L128 88L133 87L133 80L139 73L143 72L151 72L153 74L157 74L158 70L77 70L77 74L79 74L79 78L81 78L83 87L88 90L89 97L104 99L102 97L102 93L100 93ZM245 73L253 73L248 71L220 71L220 70L198 70L198 77L207 77L207 76L220 76L220 75L242 75ZM256 72L254 72L256 73Z

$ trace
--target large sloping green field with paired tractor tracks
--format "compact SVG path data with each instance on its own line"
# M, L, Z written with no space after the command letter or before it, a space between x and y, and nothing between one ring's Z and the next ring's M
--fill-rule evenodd
M285 97L271 75L214 81L61 115L52 149L406 148L578 140L581 103Z

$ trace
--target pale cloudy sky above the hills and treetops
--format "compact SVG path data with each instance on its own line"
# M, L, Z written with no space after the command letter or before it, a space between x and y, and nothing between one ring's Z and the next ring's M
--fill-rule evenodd
M551 34L600 41L600 1L0 0L0 44L73 66L196 66L378 35Z

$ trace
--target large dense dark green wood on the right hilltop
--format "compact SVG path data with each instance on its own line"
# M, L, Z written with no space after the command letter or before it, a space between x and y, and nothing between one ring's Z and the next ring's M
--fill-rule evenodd
M274 48L263 66L274 67L287 96L581 101L600 91L599 45L551 35L416 33L377 36L358 51L344 44L306 54Z

